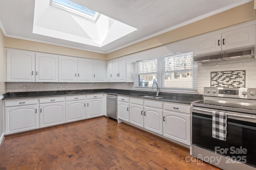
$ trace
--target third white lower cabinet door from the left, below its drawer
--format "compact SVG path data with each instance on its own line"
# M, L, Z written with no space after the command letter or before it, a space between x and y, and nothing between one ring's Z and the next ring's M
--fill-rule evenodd
M66 102L66 122L78 121L86 118L86 101Z

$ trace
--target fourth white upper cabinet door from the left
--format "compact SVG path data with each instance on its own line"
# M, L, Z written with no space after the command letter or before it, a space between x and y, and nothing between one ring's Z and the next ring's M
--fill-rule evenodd
M78 59L78 82L92 82L92 60Z

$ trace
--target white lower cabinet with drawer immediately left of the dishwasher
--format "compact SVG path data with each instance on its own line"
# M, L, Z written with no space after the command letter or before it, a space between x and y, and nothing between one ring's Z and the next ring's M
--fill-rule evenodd
M103 95L93 94L87 96L87 118L103 115Z

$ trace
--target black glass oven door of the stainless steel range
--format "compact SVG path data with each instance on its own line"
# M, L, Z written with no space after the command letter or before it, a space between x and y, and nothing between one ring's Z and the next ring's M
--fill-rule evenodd
M225 156L231 160L256 167L255 115L237 112L229 113L227 137L226 141L222 141L212 137L211 111L213 110L222 111L193 107L192 145ZM232 116L232 114L235 115Z

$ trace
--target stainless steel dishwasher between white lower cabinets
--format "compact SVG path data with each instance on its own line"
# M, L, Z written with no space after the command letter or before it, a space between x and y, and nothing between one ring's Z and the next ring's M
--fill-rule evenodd
M117 119L117 96L107 94L107 116Z

